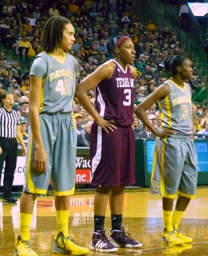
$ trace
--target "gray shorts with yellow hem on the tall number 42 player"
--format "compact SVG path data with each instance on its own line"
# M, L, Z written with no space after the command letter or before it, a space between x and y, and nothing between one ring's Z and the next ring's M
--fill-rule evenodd
M76 177L77 134L71 113L40 115L42 141L47 153L46 172L35 170L35 143L29 131L23 191L45 195L50 180L54 194L72 195Z

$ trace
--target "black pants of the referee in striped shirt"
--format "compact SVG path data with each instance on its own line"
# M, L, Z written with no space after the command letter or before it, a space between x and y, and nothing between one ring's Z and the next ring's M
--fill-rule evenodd
M0 155L0 172L4 172L3 198L12 197L14 173L17 166L18 143L16 138L0 138L2 154ZM3 170L3 165L5 167ZM0 184L1 184L0 173Z

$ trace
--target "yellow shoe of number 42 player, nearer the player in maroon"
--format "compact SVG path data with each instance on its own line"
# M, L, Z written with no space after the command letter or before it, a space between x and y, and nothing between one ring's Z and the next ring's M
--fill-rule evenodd
M79 246L72 237L64 237L63 232L60 232L54 241L52 252L58 254L84 255L90 253L90 250Z

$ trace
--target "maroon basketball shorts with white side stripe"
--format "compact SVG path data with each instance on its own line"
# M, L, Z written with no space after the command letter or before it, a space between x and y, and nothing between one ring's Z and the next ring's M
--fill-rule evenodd
M106 133L93 123L90 134L93 186L135 184L134 132L132 127L117 127Z

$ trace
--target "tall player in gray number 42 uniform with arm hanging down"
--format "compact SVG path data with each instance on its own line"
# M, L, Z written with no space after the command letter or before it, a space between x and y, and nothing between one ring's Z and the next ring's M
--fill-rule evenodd
M42 50L30 70L30 127L25 182L20 199L20 235L14 255L36 256L29 228L37 194L46 194L50 179L54 189L58 236L52 252L84 255L68 236L68 205L76 174L76 123L73 98L78 63L65 51L72 49L74 27L65 17L52 17L42 32ZM61 150L61 152L60 152Z

